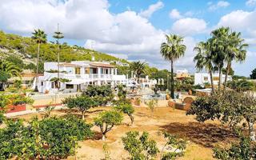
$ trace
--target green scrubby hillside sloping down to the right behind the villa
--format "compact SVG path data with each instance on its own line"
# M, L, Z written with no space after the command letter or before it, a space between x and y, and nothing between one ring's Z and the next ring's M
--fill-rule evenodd
M6 34L0 30L0 58L17 57L25 64L34 63L37 56L37 44L28 37L17 34ZM124 59L115 58L109 54L104 54L95 50L89 50L81 46L70 46L66 42L61 45L61 62L75 60L91 60L94 56L95 61L106 62L126 62ZM57 61L57 46L52 42L42 44L40 48L40 61Z

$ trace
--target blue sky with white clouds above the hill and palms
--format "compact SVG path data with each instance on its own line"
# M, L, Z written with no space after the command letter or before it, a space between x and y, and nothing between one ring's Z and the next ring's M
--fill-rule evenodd
M246 62L234 63L235 74L256 68L256 0L0 0L0 30L31 36L45 30L48 39L60 30L62 42L85 46L130 61L141 60L170 70L159 53L165 34L184 38L186 53L175 70L194 69L193 49L211 30L229 26L250 45Z

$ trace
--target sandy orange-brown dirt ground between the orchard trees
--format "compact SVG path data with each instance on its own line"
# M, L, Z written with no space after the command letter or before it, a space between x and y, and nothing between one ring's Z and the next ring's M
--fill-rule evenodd
M102 110L110 110L110 107L99 107L90 110L86 114L86 122L93 122L93 118ZM54 110L52 115L61 116L66 112L67 110ZM73 114L79 115L79 113L74 112ZM40 114L29 114L19 118L29 120L35 115L40 117ZM188 141L186 153L184 157L178 158L179 160L214 159L212 158L212 148L215 145L227 144L235 139L234 134L219 122L199 123L194 120L194 116L186 116L185 111L174 110L166 106L155 108L154 113L147 107L135 107L134 126L128 126L130 118L126 115L124 117L122 125L114 126L113 130L108 132L105 142L100 139L98 127L94 126L92 130L96 132L95 138L79 142L80 147L76 156L69 159L100 160L104 158L103 145L105 143L111 159L127 159L129 154L123 149L121 138L130 130L149 132L150 138L158 143L158 148L161 148L164 143L162 131L165 130L179 138L186 139Z

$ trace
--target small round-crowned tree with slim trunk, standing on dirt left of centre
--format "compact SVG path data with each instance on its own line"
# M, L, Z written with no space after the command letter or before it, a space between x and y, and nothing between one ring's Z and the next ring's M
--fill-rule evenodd
M106 133L115 125L119 125L122 119L122 114L115 110L104 111L98 115L98 118L94 118L94 125L100 128L103 141L106 139Z

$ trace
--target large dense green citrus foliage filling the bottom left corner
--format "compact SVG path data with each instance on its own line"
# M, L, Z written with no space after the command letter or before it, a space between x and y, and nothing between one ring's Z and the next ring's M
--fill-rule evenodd
M63 159L75 154L78 141L90 138L91 125L82 119L34 118L28 124L22 120L6 120L0 129L0 159Z

